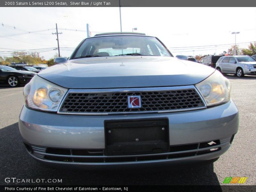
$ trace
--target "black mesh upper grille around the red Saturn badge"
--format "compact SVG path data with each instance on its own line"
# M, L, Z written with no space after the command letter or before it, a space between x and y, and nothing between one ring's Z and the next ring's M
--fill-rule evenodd
M128 96L140 96L141 108L128 108ZM70 92L60 113L136 113L189 110L205 107L195 89L143 92Z

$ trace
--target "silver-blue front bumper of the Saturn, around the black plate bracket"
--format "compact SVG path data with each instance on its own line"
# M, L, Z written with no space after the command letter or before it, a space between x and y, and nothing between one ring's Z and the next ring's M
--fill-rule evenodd
M169 119L168 153L105 156L105 120ZM23 107L19 129L30 155L52 165L86 169L171 166L218 158L238 131L238 109L230 102L206 109L161 114L62 115ZM209 145L213 141L213 145ZM78 152L79 151L79 152Z

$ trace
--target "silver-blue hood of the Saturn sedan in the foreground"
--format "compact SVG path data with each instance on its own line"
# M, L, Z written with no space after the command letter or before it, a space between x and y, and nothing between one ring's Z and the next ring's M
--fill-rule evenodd
M214 70L174 57L116 56L69 60L38 76L72 89L132 88L197 84Z

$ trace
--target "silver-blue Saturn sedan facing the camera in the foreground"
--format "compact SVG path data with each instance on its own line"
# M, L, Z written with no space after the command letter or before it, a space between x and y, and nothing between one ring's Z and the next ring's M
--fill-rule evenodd
M230 83L174 58L156 37L105 33L24 87L19 129L29 154L85 169L217 160L238 130Z

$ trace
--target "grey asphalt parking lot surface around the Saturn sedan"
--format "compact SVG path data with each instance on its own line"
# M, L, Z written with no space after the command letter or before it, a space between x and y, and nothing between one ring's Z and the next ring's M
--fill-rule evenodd
M6 183L4 179L7 177L62 179L61 185L221 185L229 176L248 177L244 185L256 185L256 76L226 77L231 82L231 97L240 113L239 131L228 152L212 164L160 172L147 170L146 173L65 170L39 164L27 154L18 129L19 113L24 103L23 87L0 85L0 185L29 184Z

